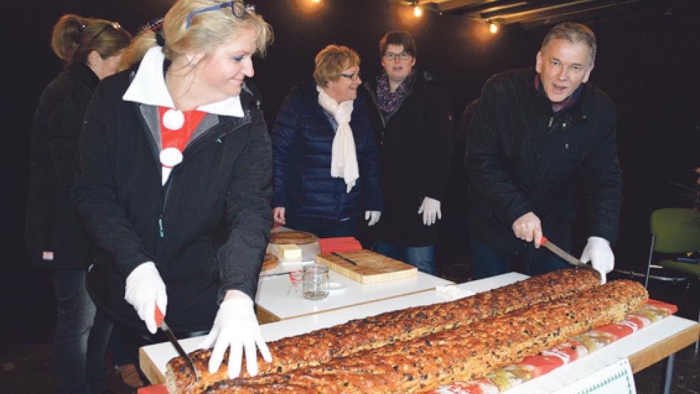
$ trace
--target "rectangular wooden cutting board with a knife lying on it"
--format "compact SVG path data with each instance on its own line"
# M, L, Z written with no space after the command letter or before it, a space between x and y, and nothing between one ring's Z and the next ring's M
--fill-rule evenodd
M316 256L316 262L326 265L340 275L349 277L363 284L389 282L418 275L418 268L391 257L380 255L371 250L352 250L340 252L340 255L353 260L357 265L343 260L331 253Z

